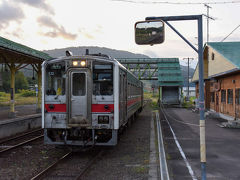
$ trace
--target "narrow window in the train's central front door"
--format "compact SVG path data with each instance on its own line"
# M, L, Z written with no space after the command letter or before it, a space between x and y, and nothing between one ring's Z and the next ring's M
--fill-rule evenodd
M74 73L72 76L72 93L74 96L85 96L86 83L84 73Z

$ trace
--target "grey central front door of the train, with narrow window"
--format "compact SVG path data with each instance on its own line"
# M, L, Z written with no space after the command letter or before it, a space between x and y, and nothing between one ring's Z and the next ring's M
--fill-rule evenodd
M92 96L88 71L71 71L69 84L69 125L86 125L90 122Z

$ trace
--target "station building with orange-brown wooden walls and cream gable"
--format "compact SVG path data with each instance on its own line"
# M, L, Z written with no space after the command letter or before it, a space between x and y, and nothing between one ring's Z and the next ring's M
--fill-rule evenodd
M205 109L227 120L240 120L240 42L209 42L204 46ZM199 96L198 65L192 82Z

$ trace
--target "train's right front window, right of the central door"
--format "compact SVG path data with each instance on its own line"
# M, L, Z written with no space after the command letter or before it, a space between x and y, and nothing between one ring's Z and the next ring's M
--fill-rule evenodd
M113 70L111 64L94 66L93 95L113 95Z

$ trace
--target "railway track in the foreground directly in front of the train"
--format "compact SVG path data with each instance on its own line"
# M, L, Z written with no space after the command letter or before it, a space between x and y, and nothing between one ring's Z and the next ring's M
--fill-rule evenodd
M39 180L39 179L58 179L58 178L66 178L66 179L75 179L75 180L81 180L84 178L84 176L86 176L87 172L89 171L89 169L92 167L92 165L94 164L94 162L103 154L103 150L97 151L96 153L94 153L91 157L89 158L89 160L87 160L87 162L85 162L85 166L81 167L81 170L74 170L73 166L77 166L76 164L74 165L69 165L67 167L71 167L70 169L66 169L64 168L66 166L68 162L68 160L70 161L71 158L73 158L74 153L72 151L66 153L65 155L63 155L61 158L59 158L56 162L54 162L53 164L51 164L50 166L48 166L46 169L44 169L43 171L41 171L40 173L38 173L36 176L32 177L31 180ZM66 162L67 161L67 162ZM81 160L79 160L80 162ZM84 160L83 160L84 161ZM80 163L82 164L82 162ZM79 167L78 167L79 168ZM59 169L61 169L61 173L58 174L59 172L57 172ZM63 172L64 170L66 172ZM67 171L71 171L70 175L69 172ZM54 174L54 175L53 175Z

